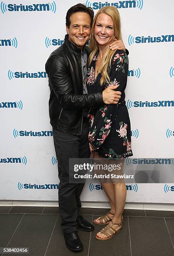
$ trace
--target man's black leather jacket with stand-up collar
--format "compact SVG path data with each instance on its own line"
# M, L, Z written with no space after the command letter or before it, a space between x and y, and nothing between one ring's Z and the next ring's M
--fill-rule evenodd
M88 47L78 49L68 35L64 43L51 53L46 62L49 77L49 116L53 128L64 133L80 135L83 109L103 105L102 92L83 94L81 51L90 54Z

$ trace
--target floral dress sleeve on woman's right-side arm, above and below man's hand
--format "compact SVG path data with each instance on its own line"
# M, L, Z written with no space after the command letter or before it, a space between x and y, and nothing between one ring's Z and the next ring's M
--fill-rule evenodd
M124 92L128 76L128 56L124 51L116 51L111 62L110 83L105 87L118 85L115 91ZM117 115L118 104L103 105L95 115L90 114L90 133L88 139L96 149L100 148L110 133Z

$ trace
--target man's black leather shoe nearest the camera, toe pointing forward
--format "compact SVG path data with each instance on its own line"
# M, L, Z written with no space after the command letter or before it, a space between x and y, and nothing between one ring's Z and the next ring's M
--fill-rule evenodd
M83 245L77 234L77 231L71 233L64 233L65 243L71 251L82 251Z

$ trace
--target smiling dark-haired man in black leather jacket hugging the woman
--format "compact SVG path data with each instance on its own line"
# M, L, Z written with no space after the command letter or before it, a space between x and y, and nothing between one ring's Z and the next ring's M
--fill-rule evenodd
M54 146L59 168L59 208L64 238L72 251L81 251L83 245L77 228L92 231L94 226L79 214L80 194L84 184L69 183L69 158L89 158L87 139L90 107L117 104L120 92L117 86L101 93L87 94L85 77L90 50L85 46L90 37L94 12L77 4L66 16L67 34L62 46L53 51L46 62L49 77L49 115L53 127ZM118 42L123 45L123 42Z

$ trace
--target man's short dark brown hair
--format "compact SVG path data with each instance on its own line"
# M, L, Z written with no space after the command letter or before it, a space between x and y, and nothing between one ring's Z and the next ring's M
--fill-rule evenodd
M66 15L66 26L69 28L71 22L70 22L70 17L73 13L88 13L90 15L91 18L91 27L92 27L92 22L93 22L93 18L94 18L94 11L92 10L91 7L86 7L86 5L83 4L77 4L72 6L71 8L69 8L69 10L67 11L67 15Z

